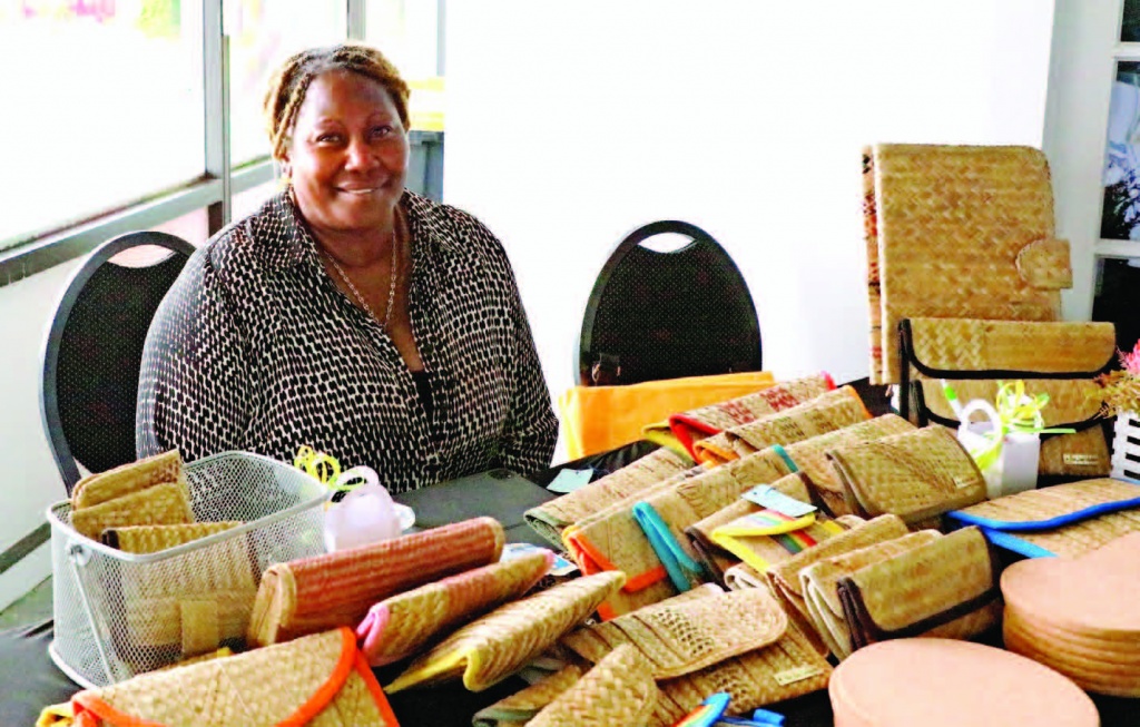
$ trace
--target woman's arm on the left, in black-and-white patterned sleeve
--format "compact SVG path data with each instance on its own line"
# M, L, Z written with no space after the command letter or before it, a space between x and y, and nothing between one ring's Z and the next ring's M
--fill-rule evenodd
M136 415L139 457L177 448L189 461L243 448L246 338L213 252L190 258L150 324Z

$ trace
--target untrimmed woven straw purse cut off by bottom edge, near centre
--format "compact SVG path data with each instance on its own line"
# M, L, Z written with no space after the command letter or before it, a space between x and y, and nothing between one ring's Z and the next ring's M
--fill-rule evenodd
M645 727L660 692L636 650L620 646L528 722L530 727Z

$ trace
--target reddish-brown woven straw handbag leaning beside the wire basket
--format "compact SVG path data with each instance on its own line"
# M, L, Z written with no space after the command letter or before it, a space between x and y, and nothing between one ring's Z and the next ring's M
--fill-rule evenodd
M498 561L505 536L491 517L278 563L266 570L247 640L264 646L356 627L377 601Z

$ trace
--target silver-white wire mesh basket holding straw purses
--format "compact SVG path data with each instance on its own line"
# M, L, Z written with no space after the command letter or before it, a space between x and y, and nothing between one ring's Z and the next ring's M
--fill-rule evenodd
M52 661L88 687L172 664L204 647L242 646L261 573L324 553L328 491L287 464L223 452L186 466L198 522L245 524L157 553L123 553L51 524Z

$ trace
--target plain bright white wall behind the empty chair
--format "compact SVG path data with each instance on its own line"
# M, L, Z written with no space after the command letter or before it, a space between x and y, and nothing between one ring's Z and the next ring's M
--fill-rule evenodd
M862 377L861 147L1040 147L1052 14L1052 0L453 2L445 198L506 245L555 395L608 253L670 218L736 260L765 368Z

